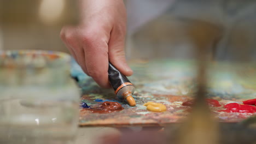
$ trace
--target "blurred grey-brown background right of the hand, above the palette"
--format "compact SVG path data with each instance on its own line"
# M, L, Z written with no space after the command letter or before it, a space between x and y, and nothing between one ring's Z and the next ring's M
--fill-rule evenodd
M129 58L194 58L205 47L218 60L256 59L256 1L129 2Z

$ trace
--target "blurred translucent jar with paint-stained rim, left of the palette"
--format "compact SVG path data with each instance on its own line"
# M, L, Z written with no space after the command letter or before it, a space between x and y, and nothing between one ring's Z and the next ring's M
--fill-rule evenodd
M74 143L79 89L69 55L0 52L0 143Z

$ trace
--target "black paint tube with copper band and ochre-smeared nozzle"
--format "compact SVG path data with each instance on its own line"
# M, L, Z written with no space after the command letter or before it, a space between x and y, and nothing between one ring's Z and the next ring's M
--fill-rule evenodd
M118 99L127 100L127 103L129 103L130 106L136 105L135 100L132 98L135 87L127 77L121 74L111 63L109 63L108 66L108 79Z

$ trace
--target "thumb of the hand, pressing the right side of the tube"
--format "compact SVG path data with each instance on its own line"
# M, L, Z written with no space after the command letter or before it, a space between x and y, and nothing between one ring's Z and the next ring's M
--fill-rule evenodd
M120 38L114 39L114 36L110 36L108 43L108 59L123 75L132 75L133 71L128 66L125 59L124 38L120 40Z

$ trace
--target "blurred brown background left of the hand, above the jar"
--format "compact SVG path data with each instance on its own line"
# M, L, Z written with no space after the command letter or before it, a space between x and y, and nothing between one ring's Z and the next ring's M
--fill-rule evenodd
M0 0L0 49L68 52L61 27L78 23L77 1Z

